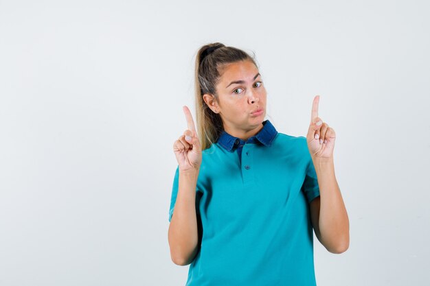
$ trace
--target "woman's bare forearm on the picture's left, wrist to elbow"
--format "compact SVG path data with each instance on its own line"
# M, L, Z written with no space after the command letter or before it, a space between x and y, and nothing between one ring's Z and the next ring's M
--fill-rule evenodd
M188 265L198 251L196 183L199 173L179 174L179 189L168 230L170 256L177 265Z

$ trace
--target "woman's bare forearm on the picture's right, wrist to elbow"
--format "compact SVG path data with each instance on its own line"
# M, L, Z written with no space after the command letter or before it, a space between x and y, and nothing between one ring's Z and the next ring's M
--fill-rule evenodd
M319 239L330 252L344 252L350 243L350 226L348 213L335 177L333 158L313 159L313 163L320 193Z

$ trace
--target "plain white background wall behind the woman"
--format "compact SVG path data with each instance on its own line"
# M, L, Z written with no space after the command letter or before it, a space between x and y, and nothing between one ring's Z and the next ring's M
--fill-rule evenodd
M428 1L1 1L0 285L185 285L168 211L194 56L255 51L278 131L337 132L350 248L317 284L428 285Z

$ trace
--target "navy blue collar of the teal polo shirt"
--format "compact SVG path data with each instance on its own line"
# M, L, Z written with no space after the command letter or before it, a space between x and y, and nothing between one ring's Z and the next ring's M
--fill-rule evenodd
M239 145L245 145L246 143L260 142L263 145L270 146L273 142L273 139L275 139L276 134L278 134L278 131L276 131L275 127L272 125L272 123L269 120L266 120L266 121L263 121L262 130L260 130L256 134L256 136L252 136L247 141L231 136L230 134L228 134L223 130L223 132L221 132L216 142L219 143L221 146L223 146L225 150L231 152L234 149L236 149Z

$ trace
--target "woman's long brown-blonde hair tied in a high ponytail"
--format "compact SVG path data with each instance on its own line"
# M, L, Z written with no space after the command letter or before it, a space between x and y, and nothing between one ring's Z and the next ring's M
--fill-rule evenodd
M222 43L203 45L196 55L195 67L195 100L196 100L196 130L200 137L202 150L211 147L218 140L224 130L223 120L218 113L213 112L205 103L205 93L216 94L216 84L220 78L223 67L232 62L250 60L256 65L253 57L241 49L226 47Z

